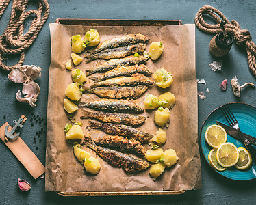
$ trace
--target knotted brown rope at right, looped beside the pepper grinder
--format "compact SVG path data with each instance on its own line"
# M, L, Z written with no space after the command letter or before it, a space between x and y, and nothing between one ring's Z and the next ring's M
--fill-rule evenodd
M214 20L216 20L215 25L211 25L203 20L203 14L208 14L212 16ZM194 22L196 27L204 31L205 33L220 33L222 29L220 28L221 20L225 20L226 24L224 25L225 30L231 33L234 36L234 40L236 44L245 46L248 58L248 66L256 77L256 45L251 41L251 35L248 30L241 29L238 22L235 20L231 20L231 23L227 18L216 8L205 5L200 8L199 12L197 12L196 17L194 18Z

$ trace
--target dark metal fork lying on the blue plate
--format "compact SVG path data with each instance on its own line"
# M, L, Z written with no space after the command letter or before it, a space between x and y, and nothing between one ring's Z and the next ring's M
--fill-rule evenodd
M223 105L220 108L220 111L222 111L224 117L227 120L227 123L231 127L235 128L238 131L239 137L244 142L244 145L246 146L247 150L250 152L250 154L251 154L251 156L253 158L253 161L255 161L255 163L256 163L256 150L255 150L255 148L253 148L253 146L251 145L250 141L248 141L248 139L240 131L238 120L236 120L235 116L233 115L233 113L231 112L231 110L229 109L229 107L227 105Z

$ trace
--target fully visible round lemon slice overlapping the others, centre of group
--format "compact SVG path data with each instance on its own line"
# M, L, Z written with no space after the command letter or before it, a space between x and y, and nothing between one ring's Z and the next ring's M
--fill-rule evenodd
M217 161L222 167L232 167L238 162L238 148L233 143L222 143L217 150Z

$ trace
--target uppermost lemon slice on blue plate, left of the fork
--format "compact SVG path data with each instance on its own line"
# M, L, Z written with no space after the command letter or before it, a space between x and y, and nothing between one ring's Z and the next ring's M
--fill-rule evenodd
M227 133L221 126L213 124L207 127L205 131L205 140L209 146L218 148L220 144L227 141Z

